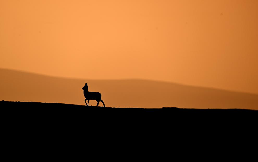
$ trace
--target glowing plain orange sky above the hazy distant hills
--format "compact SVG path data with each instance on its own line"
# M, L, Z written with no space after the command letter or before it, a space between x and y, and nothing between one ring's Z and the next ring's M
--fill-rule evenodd
M258 1L0 1L0 68L258 93Z

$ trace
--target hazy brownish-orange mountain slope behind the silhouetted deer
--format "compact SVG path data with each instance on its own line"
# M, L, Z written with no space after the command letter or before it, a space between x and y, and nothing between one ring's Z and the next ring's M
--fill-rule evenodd
M82 87L100 92L107 107L258 109L258 95L151 80L65 79L0 69L0 100L84 105ZM90 100L90 105L97 102ZM100 103L99 106L103 106Z

